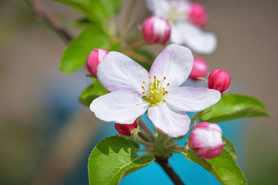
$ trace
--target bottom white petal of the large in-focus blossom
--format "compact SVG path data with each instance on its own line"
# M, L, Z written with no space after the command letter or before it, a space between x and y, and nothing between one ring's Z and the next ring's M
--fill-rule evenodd
M178 112L169 107L167 103L150 107L148 116L154 126L168 136L183 136L189 130L190 118L186 112Z

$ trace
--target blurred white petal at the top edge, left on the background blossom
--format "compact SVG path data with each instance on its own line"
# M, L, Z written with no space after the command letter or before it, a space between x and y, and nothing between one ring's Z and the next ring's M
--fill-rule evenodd
M170 3L167 0L146 0L147 8L156 16L167 17L170 12Z

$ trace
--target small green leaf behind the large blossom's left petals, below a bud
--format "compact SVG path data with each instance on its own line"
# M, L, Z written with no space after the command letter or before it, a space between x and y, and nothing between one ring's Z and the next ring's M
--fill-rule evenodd
M85 106L90 106L92 100L107 93L97 78L93 78L93 83L89 85L79 96L79 102Z

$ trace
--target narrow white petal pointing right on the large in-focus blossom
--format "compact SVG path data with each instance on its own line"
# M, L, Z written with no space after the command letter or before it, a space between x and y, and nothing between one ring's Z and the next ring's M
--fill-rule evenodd
M165 96L165 101L174 109L186 112L202 111L220 99L219 91L203 87L175 87Z

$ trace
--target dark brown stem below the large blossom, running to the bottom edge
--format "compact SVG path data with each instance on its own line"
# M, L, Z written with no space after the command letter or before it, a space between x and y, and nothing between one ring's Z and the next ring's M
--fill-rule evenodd
M161 159L159 157L156 157L156 163L158 163L161 166L161 168L163 168L165 173L167 173L167 175L170 177L172 182L174 182L174 184L185 185L181 181L181 178L179 177L179 175L177 175L177 173L174 172L172 166L170 166L170 164L168 163L168 159Z

